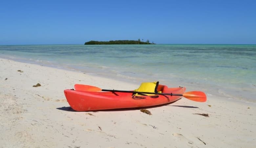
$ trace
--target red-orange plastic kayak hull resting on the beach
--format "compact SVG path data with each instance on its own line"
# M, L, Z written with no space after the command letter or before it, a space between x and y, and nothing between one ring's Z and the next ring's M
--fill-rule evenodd
M183 94L184 87L167 88L163 86L162 93ZM168 104L181 99L182 96L171 95L140 95L123 92L87 92L64 90L71 108L75 111L95 111L121 108L138 108Z

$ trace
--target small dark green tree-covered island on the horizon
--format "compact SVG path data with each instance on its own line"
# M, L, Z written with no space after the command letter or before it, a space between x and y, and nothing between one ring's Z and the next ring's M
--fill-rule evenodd
M89 41L85 42L84 45L115 45L115 44L155 44L154 42L149 43L149 40L146 42L141 42L139 40L115 40L115 41Z

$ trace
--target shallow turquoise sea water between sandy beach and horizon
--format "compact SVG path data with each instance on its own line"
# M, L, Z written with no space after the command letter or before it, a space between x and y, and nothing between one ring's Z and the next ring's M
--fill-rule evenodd
M256 102L256 45L15 45L0 57Z

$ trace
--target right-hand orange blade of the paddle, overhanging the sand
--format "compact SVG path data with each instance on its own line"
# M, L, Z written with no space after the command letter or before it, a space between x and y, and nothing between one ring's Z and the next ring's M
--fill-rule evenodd
M197 102L205 102L206 101L206 95L203 92L199 92L199 91L186 92L182 96L184 96L187 99L197 101Z

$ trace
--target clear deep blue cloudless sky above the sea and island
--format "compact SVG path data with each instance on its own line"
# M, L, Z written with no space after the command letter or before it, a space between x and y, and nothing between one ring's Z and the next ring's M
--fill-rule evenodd
M1 0L0 45L256 44L256 0Z

